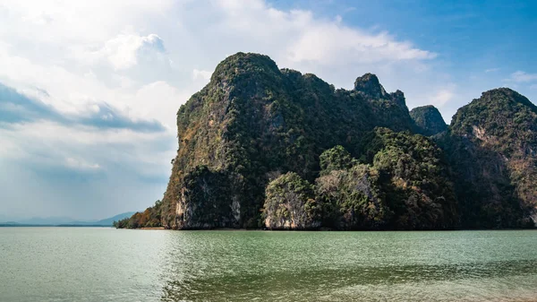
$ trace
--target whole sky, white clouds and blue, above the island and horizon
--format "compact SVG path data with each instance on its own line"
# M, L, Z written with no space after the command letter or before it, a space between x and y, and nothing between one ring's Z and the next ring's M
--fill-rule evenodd
M0 0L0 220L100 219L162 197L175 112L238 51L351 88L377 73L447 123L537 99L533 1Z

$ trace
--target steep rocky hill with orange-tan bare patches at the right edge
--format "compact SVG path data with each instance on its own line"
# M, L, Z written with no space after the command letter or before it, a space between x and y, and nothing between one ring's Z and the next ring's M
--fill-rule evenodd
M483 92L457 111L439 143L456 172L466 228L533 224L537 206L533 103L507 88Z

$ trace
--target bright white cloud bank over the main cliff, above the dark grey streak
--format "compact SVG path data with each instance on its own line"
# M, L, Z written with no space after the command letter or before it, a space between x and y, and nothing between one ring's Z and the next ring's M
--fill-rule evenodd
M336 84L352 83L371 65L412 62L422 72L420 62L436 56L386 32L277 10L261 0L191 2L188 10L171 0L3 5L8 17L0 29L0 82L43 89L51 96L43 100L62 112L80 114L107 102L126 116L163 118L172 128L187 93L199 90L208 70L237 51L265 53L278 65L320 73Z

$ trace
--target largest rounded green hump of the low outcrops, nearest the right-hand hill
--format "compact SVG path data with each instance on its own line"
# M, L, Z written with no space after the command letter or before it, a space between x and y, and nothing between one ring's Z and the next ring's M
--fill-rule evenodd
M394 211L392 229L458 226L452 177L435 142L422 135L377 129L363 144L366 159L372 156L373 167L388 178L382 191Z

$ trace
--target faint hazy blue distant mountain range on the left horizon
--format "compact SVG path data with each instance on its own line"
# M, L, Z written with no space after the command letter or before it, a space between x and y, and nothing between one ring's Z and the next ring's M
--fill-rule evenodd
M103 220L90 220L90 221L81 221L73 220L69 217L32 217L30 219L21 219L21 220L0 220L0 226L10 225L10 226L102 226L108 227L112 226L112 223L115 220L123 220L124 218L131 217L135 211L127 211L121 214L117 214L113 217L106 218Z

